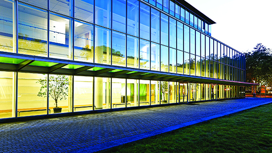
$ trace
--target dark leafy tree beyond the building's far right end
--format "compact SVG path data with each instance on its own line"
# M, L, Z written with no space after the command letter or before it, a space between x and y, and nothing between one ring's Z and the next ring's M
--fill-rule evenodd
M246 82L272 85L272 52L262 44L257 44L253 51L245 53Z

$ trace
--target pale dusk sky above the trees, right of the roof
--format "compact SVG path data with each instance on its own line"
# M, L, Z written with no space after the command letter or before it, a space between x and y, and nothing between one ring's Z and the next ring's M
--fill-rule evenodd
M185 0L207 15L212 37L233 49L252 51L257 43L272 49L272 0Z

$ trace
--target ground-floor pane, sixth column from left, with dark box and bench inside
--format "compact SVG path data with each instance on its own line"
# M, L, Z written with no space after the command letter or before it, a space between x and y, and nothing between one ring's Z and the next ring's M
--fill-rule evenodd
M112 108L126 107L126 79L112 78ZM131 103L127 100L127 106Z

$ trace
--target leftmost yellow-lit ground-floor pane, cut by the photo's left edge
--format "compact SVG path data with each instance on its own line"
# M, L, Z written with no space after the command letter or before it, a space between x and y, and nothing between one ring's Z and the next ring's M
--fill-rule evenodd
M12 81L15 81L13 77L15 72L0 72L0 118L15 117L15 107L12 107L12 96L14 96L14 88Z

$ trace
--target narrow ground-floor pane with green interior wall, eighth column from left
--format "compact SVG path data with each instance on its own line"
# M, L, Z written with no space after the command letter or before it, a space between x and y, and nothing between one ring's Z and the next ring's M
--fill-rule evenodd
M141 105L149 105L150 100L150 81L149 80L140 80L140 99L139 104Z

